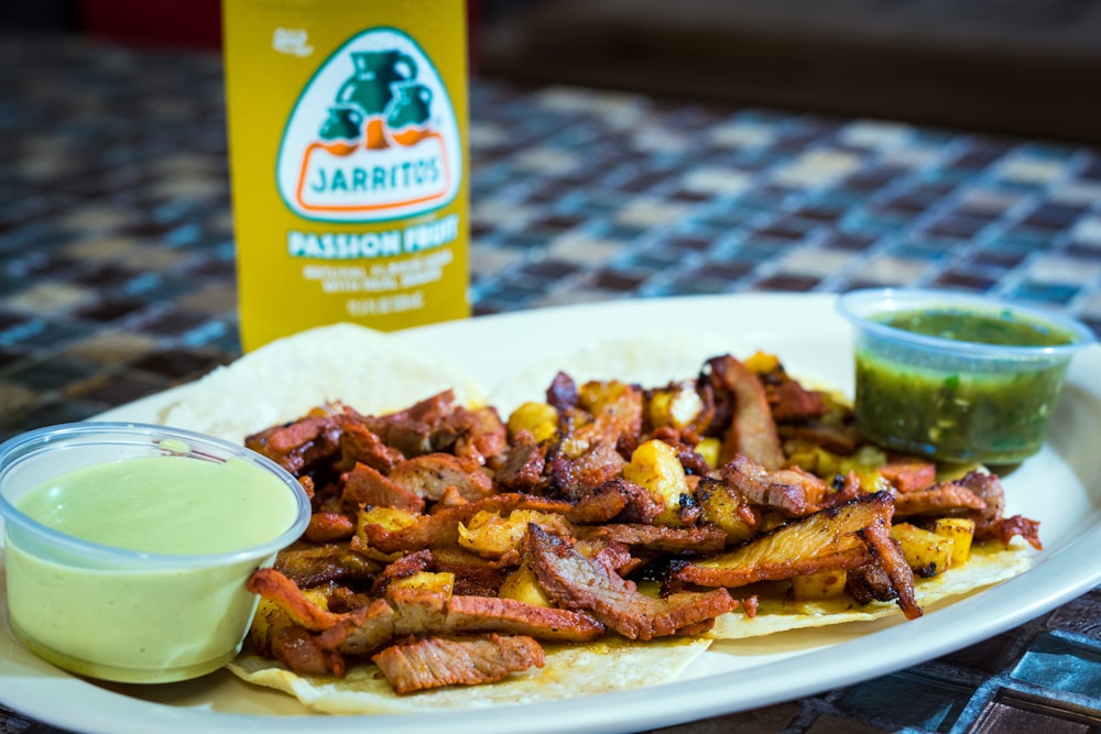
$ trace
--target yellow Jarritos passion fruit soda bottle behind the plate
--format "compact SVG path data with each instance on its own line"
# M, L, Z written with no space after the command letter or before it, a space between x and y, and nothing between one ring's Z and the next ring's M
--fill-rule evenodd
M462 0L224 0L241 344L470 315Z

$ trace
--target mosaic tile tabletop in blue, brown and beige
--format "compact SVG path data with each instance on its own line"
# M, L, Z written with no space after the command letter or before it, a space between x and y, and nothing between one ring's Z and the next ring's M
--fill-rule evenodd
M224 114L215 55L0 39L0 437L238 354ZM1101 151L489 79L472 116L478 314L916 283L1101 331ZM4 734L48 731L0 709ZM1101 732L1101 590L895 675L669 731Z

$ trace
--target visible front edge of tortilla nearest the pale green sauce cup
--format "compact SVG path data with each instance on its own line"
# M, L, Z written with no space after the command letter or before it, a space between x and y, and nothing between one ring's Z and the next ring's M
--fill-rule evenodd
M545 645L543 668L513 673L499 683L451 686L407 695L395 694L373 664L353 666L345 678L297 675L257 656L241 656L229 669L251 683L290 693L320 713L461 711L656 686L674 680L709 645L708 639L683 637L650 643L609 637L579 646Z

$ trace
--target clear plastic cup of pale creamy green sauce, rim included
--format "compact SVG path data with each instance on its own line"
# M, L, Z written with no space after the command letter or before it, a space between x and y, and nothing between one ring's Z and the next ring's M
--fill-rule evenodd
M219 439L126 423L30 431L0 445L12 632L92 678L205 675L240 650L248 578L309 514L294 476Z

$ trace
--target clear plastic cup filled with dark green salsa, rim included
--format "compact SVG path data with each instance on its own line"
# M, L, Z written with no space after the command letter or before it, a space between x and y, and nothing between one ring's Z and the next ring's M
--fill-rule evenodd
M837 308L855 328L858 429L951 462L1036 453L1071 359L1095 340L1072 319L949 291L854 291Z

